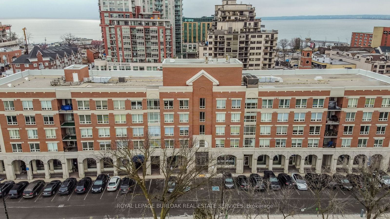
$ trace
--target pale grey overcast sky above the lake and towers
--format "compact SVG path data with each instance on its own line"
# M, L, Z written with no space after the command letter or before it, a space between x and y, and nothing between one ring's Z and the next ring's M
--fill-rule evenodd
M185 17L214 14L222 0L183 0ZM239 3L240 1L238 1ZM390 14L389 0L246 0L256 7L257 17L296 15ZM369 7L367 7L369 5ZM1 18L97 19L97 0L0 0Z

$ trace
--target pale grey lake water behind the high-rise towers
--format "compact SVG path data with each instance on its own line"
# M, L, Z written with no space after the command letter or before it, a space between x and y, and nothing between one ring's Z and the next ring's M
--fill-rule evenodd
M32 33L32 41L61 41L60 36L71 32L76 37L101 39L99 20L97 19L1 19L3 24L11 24L12 31L22 35L23 27ZM278 30L279 39L293 37L310 37L316 40L349 42L354 31L370 32L374 26L390 26L390 20L363 19L314 19L314 20L264 20L267 30Z

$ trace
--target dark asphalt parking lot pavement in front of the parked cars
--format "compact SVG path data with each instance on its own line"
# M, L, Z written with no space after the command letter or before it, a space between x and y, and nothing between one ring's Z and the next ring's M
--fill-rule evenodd
M215 203L220 200L222 193L222 180L216 179L215 182L203 185L193 191L190 191L186 196L179 198L170 210L171 216L176 215L192 215L195 207ZM151 179L147 181L149 193L161 193L164 182L161 179ZM212 191L213 186L219 186L220 191ZM90 190L90 189L89 189ZM42 192L42 191L41 191ZM242 209L239 205L247 203L253 204L255 199L263 200L261 203L268 203L275 205L270 212L275 212L275 209L280 202L280 196L277 194L280 191L255 192L255 197L248 194L247 191L238 189L223 189L223 197L226 200L225 204L236 204L237 206L230 208L230 213L241 214ZM324 204L326 204L326 197L328 193L337 193L337 197L345 200L349 204L348 213L358 214L362 205L355 203L355 199L349 194L353 191L344 191L337 189L335 191L324 190ZM294 189L293 194L289 196L291 205L298 205L300 208L306 208L300 214L316 214L315 196L312 191L300 191ZM137 185L135 189L128 194L120 194L118 191L101 193L85 193L68 195L55 194L50 197L43 197L41 193L35 198L6 198L7 209L11 219L103 219L103 218L119 218L121 217L145 217L150 216L149 209L145 207L146 199L142 194L140 187ZM157 205L158 203L155 202ZM253 208L262 208L261 206L254 206ZM5 218L3 211L0 212L0 218Z

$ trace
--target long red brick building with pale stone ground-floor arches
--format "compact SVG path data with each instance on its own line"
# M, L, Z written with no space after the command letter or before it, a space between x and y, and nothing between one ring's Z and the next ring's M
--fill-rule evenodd
M87 65L1 78L0 175L14 179L28 167L29 179L67 178L74 164L79 177L116 175L96 153L121 137L128 138L123 147L142 147L145 133L153 159L192 137L202 153L218 155L217 170L226 164L236 173L351 172L374 155L387 168L390 78L361 69L242 65L167 59L163 71L111 71L94 75L94 83L78 82L88 78Z

